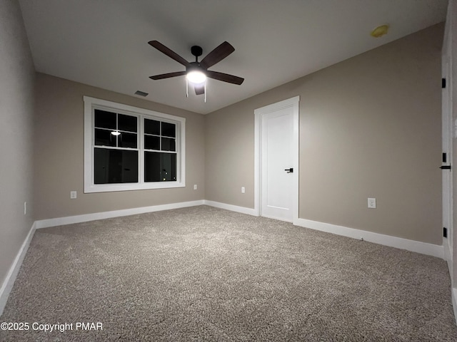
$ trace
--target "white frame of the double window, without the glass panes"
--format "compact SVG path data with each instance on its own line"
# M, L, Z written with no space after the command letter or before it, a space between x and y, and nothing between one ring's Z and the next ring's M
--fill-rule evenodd
M139 182L95 184L94 109L133 115L139 118ZM144 118L176 125L176 181L144 182ZM84 193L168 189L174 187L186 187L186 118L84 96Z

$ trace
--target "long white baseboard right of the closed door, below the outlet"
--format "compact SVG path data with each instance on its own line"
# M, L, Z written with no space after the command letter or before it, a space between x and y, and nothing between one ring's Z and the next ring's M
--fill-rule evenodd
M406 249L411 252L444 259L443 246L438 244L428 244L426 242L403 239L401 237L392 237L390 235L367 232L365 230L338 226L336 224L311 221L311 219L297 219L293 224L300 227L320 230L321 232L342 235L343 237L352 237L353 239L363 239L364 241L374 242L375 244L383 244L384 246Z

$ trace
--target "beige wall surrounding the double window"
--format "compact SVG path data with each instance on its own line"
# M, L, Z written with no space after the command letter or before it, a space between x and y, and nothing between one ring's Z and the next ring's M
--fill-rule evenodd
M84 95L186 118L186 187L84 194ZM38 73L36 219L204 199L204 140L203 115Z

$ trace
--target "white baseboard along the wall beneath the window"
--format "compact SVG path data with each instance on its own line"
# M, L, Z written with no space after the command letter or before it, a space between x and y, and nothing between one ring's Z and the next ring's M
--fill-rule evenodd
M69 217L58 217L56 219L41 219L36 221L36 229L63 226L65 224L74 224L80 222L95 221L96 219L110 219L112 217L130 216L136 214L144 214L146 212L159 212L161 210L179 209L185 207L195 207L196 205L204 204L204 200L196 200L191 202L179 202L170 204L153 205L151 207L139 207L131 209L114 210L112 212L95 212L94 214L82 214Z

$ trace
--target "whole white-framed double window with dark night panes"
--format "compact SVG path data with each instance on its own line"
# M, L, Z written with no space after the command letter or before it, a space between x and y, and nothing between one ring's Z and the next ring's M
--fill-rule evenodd
M185 187L185 123L84 96L84 192Z

